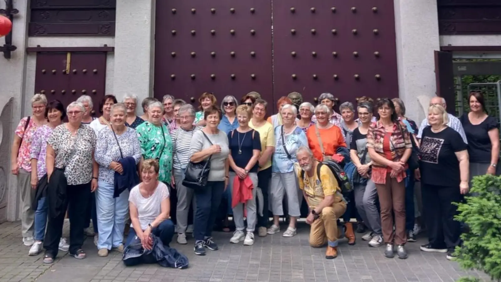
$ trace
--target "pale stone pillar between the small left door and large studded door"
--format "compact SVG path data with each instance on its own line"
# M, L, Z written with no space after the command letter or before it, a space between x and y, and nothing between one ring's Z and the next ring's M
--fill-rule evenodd
M117 1L113 91L141 101L153 96L155 0Z

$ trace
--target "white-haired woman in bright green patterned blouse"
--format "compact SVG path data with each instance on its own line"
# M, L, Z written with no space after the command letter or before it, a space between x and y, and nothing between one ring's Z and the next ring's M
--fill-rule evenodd
M156 159L160 164L159 180L172 183L172 139L169 129L162 123L163 105L148 105L148 121L136 128L143 158ZM172 215L172 213L171 213Z

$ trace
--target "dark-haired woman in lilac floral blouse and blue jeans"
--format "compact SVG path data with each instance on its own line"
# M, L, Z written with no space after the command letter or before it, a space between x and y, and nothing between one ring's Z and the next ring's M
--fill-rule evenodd
M47 105L45 116L49 123L39 127L35 131L30 153L32 166L31 185L33 189L37 188L38 182L47 174L47 167L45 165L47 139L49 139L52 130L60 125L66 117L66 110L59 100L54 100ZM44 240L47 224L48 203L46 199L46 195L42 195L37 204L37 210L35 211L35 243L30 248L29 255L37 255L42 251L42 241ZM69 248L68 240L61 238L59 249L67 251Z

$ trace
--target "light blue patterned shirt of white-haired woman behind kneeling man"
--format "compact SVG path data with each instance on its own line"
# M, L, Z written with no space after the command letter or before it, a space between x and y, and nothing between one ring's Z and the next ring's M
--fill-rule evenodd
M296 153L299 147L308 147L308 139L306 139L306 134L300 127L296 127L293 132L284 135L285 147L291 155L289 159L284 149L284 142L282 142L282 127L277 126L275 128L276 145L275 153L273 154L272 172L286 173L294 171L294 164L298 162Z

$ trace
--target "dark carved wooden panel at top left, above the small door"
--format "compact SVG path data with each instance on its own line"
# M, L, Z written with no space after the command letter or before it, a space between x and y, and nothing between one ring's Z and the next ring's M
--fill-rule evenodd
M113 36L116 0L32 0L30 36Z

